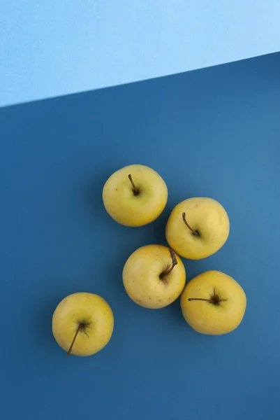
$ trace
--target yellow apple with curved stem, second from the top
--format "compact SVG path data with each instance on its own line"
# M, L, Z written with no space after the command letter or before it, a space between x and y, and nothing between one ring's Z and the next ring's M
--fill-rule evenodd
M226 210L207 197L194 197L177 204L166 225L168 244L190 260L200 260L218 251L228 239L230 222Z

